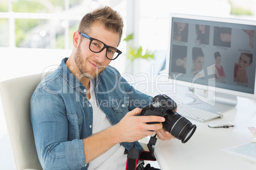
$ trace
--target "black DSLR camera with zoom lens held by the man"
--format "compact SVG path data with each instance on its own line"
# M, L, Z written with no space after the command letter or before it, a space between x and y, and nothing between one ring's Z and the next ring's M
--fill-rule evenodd
M186 143L196 131L196 125L185 117L175 112L177 104L167 95L157 95L152 103L141 110L140 115L162 116L166 121L162 122L164 129L169 131L175 138ZM151 122L159 123L159 122Z

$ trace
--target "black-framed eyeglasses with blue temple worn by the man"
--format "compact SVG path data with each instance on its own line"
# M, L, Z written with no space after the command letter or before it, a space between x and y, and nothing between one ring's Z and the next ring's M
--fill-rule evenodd
M81 34L81 36L90 39L89 49L94 53L100 53L101 51L103 51L103 49L106 48L106 58L108 58L109 60L115 60L120 54L122 54L122 51L117 48L107 46L106 44L104 44L104 42L92 38L83 32L79 33Z

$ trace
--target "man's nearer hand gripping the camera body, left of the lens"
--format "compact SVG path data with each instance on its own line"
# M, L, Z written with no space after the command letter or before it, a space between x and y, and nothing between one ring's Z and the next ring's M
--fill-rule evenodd
M141 112L141 108L135 108L128 112L125 117L115 125L116 133L120 137L120 142L133 142L141 140L146 136L153 135L154 131L162 129L162 123L147 124L147 122L164 122L164 117L147 115L136 116Z

